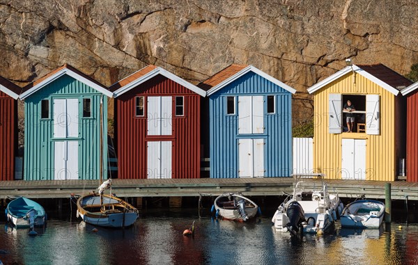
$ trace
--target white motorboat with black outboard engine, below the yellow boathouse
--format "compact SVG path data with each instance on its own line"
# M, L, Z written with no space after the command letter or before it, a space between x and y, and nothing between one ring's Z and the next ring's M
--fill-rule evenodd
M330 230L343 209L337 194L330 194L327 184L320 191L304 191L297 182L293 195L280 204L272 217L277 231L322 234Z

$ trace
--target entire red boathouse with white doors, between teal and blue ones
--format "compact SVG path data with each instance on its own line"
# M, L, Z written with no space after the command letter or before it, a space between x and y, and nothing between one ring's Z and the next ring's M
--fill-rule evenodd
M204 90L154 65L110 90L115 97L119 179L200 177Z

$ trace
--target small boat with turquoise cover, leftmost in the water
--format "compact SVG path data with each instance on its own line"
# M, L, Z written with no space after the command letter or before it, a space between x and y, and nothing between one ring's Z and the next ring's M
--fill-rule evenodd
M46 214L38 202L20 197L9 202L6 217L16 227L30 227L45 225Z

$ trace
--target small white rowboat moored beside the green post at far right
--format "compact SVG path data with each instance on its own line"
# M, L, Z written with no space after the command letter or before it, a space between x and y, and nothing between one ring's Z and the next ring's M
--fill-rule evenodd
M341 214L341 227L378 228L385 215L385 204L378 200L356 200Z

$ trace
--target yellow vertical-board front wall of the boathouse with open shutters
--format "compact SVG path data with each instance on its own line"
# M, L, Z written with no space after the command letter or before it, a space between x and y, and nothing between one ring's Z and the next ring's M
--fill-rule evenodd
M394 181L395 152L395 95L360 74L346 74L314 93L314 169L329 179L341 179L341 151L343 138L366 139L366 180ZM330 93L380 95L380 134L330 134ZM342 106L345 102L342 102ZM355 105L355 103L353 102ZM341 117L341 122L346 120ZM357 126L357 124L355 125Z

